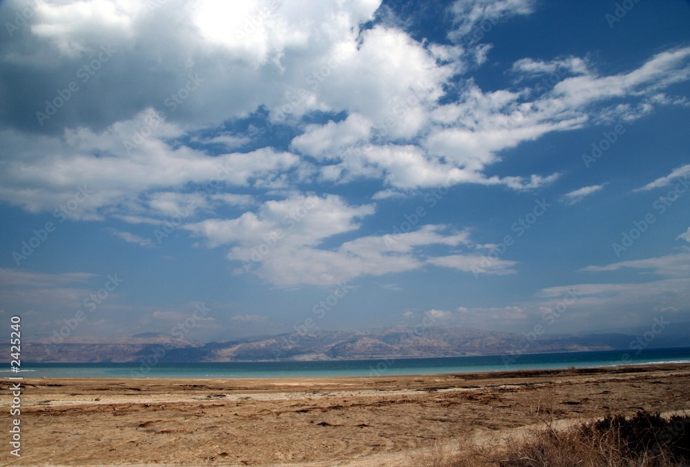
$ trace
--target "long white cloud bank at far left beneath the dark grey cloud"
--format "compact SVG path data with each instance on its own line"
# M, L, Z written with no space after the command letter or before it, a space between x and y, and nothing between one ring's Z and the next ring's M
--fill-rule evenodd
M121 213L117 207L121 203L148 206L147 210L164 216L174 215L181 205L204 208L205 198L219 188L267 185L299 161L289 152L269 148L210 157L155 138L128 153L111 132L86 129L66 130L60 138L4 130L0 139L16 145L15 157L0 171L0 199L31 212L52 212L79 186L86 186L92 193L70 212L77 219ZM188 183L196 184L197 192L159 191Z

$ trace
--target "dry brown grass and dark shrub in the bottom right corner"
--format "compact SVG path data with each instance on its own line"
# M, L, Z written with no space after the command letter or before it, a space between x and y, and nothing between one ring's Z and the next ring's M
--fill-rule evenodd
M421 455L420 455L421 456ZM414 467L690 467L690 417L607 415L565 430L533 430L499 445L436 445Z

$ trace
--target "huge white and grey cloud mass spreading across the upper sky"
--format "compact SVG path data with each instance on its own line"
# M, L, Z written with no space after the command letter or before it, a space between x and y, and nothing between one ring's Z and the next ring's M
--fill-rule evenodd
M69 199L78 184L97 187L72 212L75 219L150 217L143 211L151 192L212 181L224 166L221 185L260 190L290 189L315 174L321 182L382 179L397 192L445 185L449 177L454 184L540 188L558 174L489 177L485 170L500 163L504 150L549 132L582 128L604 117L639 118L653 109L652 103L669 101L662 99L663 88L690 78L690 48L661 52L637 70L613 76L599 76L578 57L525 58L513 64L518 82L544 73L555 73L560 81L546 91L528 86L484 92L471 79L455 84L466 71L463 61L479 53L479 46L419 42L386 24L359 34L359 25L380 6L373 0L323 1L317 7L270 0L242 5L175 0L176 8L154 10L105 0L40 0L36 6L28 26L32 34L23 39L28 42L10 43L3 59L17 67L19 76L41 83L37 91L50 96L63 86L55 76L75 74L83 65L80 57L97 54L101 44L117 50L112 62L103 63L102 73L83 83L70 110L46 121L43 135L22 130L36 128L33 110L10 115L0 134L7 155L0 199L37 212ZM454 34L483 23L493 28L533 8L527 0L456 1L451 7ZM169 28L171 23L178 27ZM19 60L24 49L17 44L35 54ZM156 72L138 72L141 63ZM166 99L184 88L188 74L201 79L198 89L172 110ZM137 92L132 92L132 81ZM21 82L3 82L8 95L24 99L27 93L17 88ZM444 86L451 82L460 97L440 105ZM592 107L623 98L640 102ZM221 122L246 117L260 106L273 123L279 115L284 123L294 123L292 148L330 165L314 166L267 147L217 157L197 148L221 144L232 150L257 143L264 130L218 130ZM15 106L34 107L33 101ZM301 128L297 117L313 111L347 117ZM161 114L165 118L156 119ZM141 132L150 135L132 146ZM201 136L209 134L215 136ZM192 147L183 142L186 137ZM383 190L379 199L388 193L393 192ZM128 203L144 210L120 212ZM199 206L211 210L215 203L199 199Z

